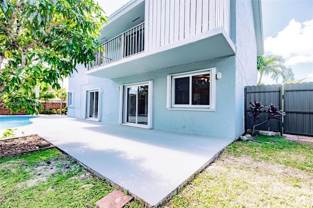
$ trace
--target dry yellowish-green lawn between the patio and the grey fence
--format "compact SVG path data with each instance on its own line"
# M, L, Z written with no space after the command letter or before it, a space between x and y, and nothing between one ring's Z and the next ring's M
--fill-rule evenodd
M239 141L196 176L167 207L313 207L313 143L284 137Z

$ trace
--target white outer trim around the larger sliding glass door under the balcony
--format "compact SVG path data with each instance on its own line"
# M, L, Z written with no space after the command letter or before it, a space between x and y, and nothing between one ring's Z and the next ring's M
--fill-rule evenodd
M148 125L141 125L141 124L131 124L131 123L125 123L125 115L123 115L123 112L125 111L125 98L126 98L126 87L133 86L133 85L141 85L141 84L148 84L149 86L149 93L148 93ZM148 128L152 129L152 98L153 98L153 81L146 81L146 82L140 82L140 83L130 83L130 84L123 84L120 86L120 109L119 109L119 124L120 125L128 125L128 126L134 126L134 127L140 127L140 128Z

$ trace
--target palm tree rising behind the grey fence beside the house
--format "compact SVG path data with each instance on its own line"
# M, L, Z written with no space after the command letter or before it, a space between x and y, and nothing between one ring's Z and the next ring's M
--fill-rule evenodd
M261 81L264 75L271 74L271 79L276 80L281 76L285 79L285 60L281 56L258 56L257 69L260 73L260 79L258 85L261 85Z

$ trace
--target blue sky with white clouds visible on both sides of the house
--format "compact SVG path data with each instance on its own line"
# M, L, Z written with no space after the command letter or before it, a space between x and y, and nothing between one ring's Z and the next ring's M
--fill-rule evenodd
M99 4L109 16L128 1L99 0ZM283 56L297 80L313 82L313 0L261 0L261 4L265 54ZM262 82L276 83L269 77Z

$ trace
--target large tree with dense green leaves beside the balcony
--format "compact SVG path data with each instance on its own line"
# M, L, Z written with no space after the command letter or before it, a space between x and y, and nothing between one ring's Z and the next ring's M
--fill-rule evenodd
M22 92L60 88L76 64L94 60L102 14L93 0L0 0L0 101L36 112L36 99Z

